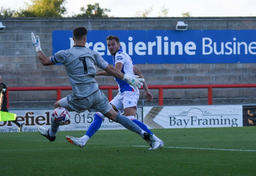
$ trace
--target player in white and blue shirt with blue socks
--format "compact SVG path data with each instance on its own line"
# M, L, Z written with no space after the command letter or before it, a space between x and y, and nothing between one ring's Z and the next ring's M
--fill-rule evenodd
M138 75L140 78L143 78L142 73L133 64L131 57L120 49L120 42L117 36L110 35L107 37L107 46L110 54L113 55L113 65L115 68L120 70L124 74L128 74L129 76ZM97 72L96 75L105 75L110 76L109 73L106 71ZM112 104L112 108L119 112L123 113L124 115L130 118L135 124L137 124L140 128L142 128L147 133L151 133L154 136L154 139L161 143L161 147L164 146L164 142L156 137L148 127L143 124L142 122L135 119L136 110L137 110L137 102L139 100L140 92L139 90L134 89L131 85L127 84L127 82L115 78L118 84L118 94L114 97L110 104ZM146 82L143 82L143 88L145 91L145 96L148 101L153 99L153 96L149 92L148 86ZM95 113L93 123L90 125L89 129L87 130L86 134L82 137L83 141L86 143L89 138L100 128L104 115L100 112ZM149 145L150 141L146 140ZM160 148L161 148L160 147ZM151 148L150 148L151 149Z

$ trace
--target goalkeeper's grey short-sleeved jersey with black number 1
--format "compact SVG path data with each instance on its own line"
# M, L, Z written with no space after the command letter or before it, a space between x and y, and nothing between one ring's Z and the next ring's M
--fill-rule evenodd
M85 98L99 90L99 85L94 79L97 72L95 65L102 70L108 66L99 53L84 46L61 50L55 53L50 61L53 64L64 64L75 99Z

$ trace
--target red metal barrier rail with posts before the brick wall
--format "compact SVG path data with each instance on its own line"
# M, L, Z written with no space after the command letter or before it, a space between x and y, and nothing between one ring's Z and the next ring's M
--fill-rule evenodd
M153 85L148 86L149 89L159 90L159 105L163 106L163 89L208 89L208 105L212 104L212 89L213 88L253 88L256 84L207 84L207 85ZM112 100L112 90L118 89L118 86L100 86L101 90L108 90L108 100ZM62 90L72 90L70 86L56 87L9 87L7 89L7 98L9 91L47 91L56 90L57 100L61 99ZM9 108L9 101L7 104Z

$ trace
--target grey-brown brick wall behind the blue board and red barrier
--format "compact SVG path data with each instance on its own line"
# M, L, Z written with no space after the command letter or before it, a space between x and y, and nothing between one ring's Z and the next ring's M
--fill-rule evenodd
M255 17L190 18L0 18L6 26L0 32L0 75L8 87L69 86L63 66L42 66L36 57L30 33L40 36L43 52L52 53L52 31L73 30L174 30L177 21L188 24L188 30L256 29ZM255 63L232 64L138 64L148 85L250 84L255 83ZM116 85L112 77L97 77L100 85ZM139 105L158 105L158 91L151 91L154 101ZM70 91L63 91L64 97ZM104 91L107 94L107 92ZM113 92L113 96L116 91ZM214 89L213 104L256 103L255 88ZM10 92L10 107L52 107L56 92ZM31 103L33 101L33 103ZM207 90L164 90L164 105L207 104Z

